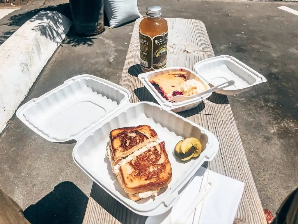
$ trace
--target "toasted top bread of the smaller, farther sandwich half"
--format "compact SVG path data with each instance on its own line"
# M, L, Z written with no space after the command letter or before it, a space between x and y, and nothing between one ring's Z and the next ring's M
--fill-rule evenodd
M149 125L118 128L110 132L110 144L114 161L132 154L149 142L156 141L156 132Z

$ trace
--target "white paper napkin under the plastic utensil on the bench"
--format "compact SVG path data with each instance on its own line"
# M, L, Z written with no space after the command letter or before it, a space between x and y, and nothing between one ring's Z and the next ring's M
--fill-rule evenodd
M212 183L211 191L197 206L195 212L185 220L185 224L232 224L243 193L244 183L203 167L198 169L192 182L181 192L177 204L165 214L148 217L146 224L173 223L184 214L198 194L201 185L207 181Z

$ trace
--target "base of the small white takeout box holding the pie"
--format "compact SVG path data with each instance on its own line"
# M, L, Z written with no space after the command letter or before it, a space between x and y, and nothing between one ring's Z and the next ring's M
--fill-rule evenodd
M148 91L152 94L152 96L156 99L156 101L159 103L159 105L162 106L162 108L166 110L171 110L175 113L181 112L181 111L187 111L192 108L197 107L203 99L208 98L211 96L212 93L207 93L203 96L200 97L195 97L193 99L188 99L183 102L167 102L166 99L160 95L160 93L154 88L154 86L150 83L150 79L153 77L163 74L163 73L168 73L168 72L176 72L176 71L182 71L186 72L187 79L195 79L199 82L201 82L205 87L206 90L210 89L210 86L208 85L208 82L206 82L202 77L196 73L194 73L192 70L186 68L186 67L168 67L168 68L163 68L155 71L150 71L146 73L142 73L138 75L138 78L141 80L141 82L144 84L144 86L148 89Z

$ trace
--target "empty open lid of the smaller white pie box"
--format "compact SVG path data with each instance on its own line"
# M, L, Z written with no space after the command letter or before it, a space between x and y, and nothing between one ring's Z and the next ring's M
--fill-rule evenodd
M266 78L238 59L221 55L197 62L194 65L196 73L212 86L219 85L229 80L235 84L215 91L222 95L235 95L245 92L252 86L266 82Z

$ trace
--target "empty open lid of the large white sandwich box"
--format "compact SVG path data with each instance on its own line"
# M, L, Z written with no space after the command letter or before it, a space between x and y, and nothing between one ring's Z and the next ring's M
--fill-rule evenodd
M105 79L78 75L31 99L16 111L32 131L51 142L77 140L128 104L130 92Z

